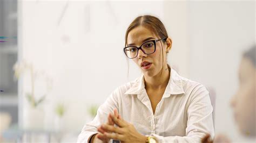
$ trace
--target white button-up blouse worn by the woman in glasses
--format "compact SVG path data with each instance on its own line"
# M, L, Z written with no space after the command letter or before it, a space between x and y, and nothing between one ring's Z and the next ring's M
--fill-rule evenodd
M112 92L99 107L95 119L84 125L77 142L88 142L114 108L139 133L153 135L158 142L200 142L206 133L213 138L209 92L200 83L181 77L174 69L170 71L169 82L154 114L142 75Z

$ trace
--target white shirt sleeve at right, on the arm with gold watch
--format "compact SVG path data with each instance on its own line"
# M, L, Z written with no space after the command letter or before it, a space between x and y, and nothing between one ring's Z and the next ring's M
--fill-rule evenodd
M200 142L207 133L214 138L212 112L213 107L209 92L203 85L198 85L191 92L186 106L187 127L185 137L163 137L152 134L158 142Z

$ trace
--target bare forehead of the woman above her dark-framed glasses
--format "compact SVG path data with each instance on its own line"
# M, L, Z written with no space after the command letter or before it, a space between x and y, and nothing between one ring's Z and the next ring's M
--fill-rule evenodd
M139 26L131 30L127 36L127 45L134 44L140 45L142 44L143 40L152 37L157 39L156 34L149 28Z

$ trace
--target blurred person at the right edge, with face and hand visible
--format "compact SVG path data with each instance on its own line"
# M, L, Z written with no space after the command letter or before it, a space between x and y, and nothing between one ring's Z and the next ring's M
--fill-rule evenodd
M255 98L256 98L256 46L244 53L239 68L239 88L231 100L234 118L240 133L247 137L256 137ZM206 135L202 142L213 142ZM230 142L225 135L218 135L214 142Z

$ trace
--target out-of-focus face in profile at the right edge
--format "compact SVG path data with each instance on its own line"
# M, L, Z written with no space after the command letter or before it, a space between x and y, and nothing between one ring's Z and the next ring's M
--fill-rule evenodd
M232 98L235 121L239 130L246 135L255 136L255 81L256 70L252 62L243 58L239 68L239 89Z

